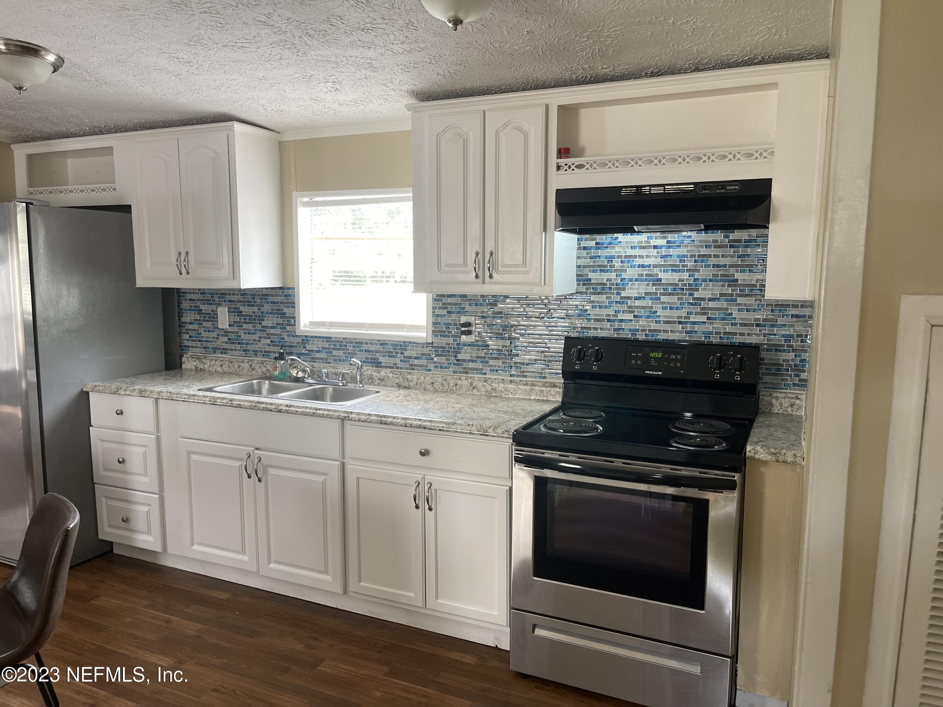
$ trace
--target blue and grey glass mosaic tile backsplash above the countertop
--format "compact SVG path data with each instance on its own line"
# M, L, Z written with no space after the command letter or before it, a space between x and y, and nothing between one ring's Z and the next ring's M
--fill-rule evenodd
M367 366L518 378L557 378L563 337L624 336L734 341L763 347L760 385L804 389L813 308L763 299L767 234L586 236L575 294L562 297L443 295L433 298L431 343L295 334L294 288L181 289L184 354L289 354ZM229 307L229 328L216 307ZM475 341L458 321L475 318Z

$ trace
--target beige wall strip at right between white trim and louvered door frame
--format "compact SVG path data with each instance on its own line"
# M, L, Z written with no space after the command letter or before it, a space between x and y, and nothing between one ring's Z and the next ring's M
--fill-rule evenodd
M835 707L863 695L901 295L943 294L943 3L883 6Z

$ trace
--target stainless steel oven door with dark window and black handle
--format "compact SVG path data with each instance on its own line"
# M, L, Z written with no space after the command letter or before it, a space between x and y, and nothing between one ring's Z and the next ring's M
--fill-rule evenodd
M733 655L737 474L514 460L512 608Z

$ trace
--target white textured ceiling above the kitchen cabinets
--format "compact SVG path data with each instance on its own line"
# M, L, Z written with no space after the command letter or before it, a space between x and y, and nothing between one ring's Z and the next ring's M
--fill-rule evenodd
M412 100L821 58L831 0L494 0L452 32L420 0L0 0L0 34L66 58L14 140L238 119L406 117Z

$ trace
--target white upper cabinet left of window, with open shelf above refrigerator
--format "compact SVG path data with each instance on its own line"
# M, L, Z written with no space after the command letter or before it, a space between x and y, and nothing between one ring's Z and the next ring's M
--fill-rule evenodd
M141 288L282 285L278 133L215 123L25 142L16 193L130 205Z

